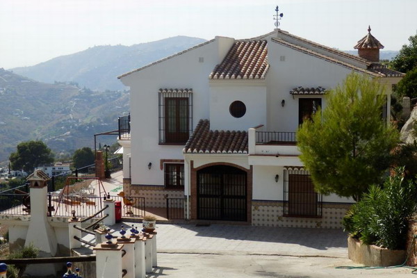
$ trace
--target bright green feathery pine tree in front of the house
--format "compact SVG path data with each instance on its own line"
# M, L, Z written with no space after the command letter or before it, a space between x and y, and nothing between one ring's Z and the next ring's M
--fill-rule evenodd
M383 85L359 74L327 94L327 107L305 121L297 133L300 159L316 190L359 200L382 182L391 163L398 131L382 120Z

